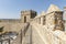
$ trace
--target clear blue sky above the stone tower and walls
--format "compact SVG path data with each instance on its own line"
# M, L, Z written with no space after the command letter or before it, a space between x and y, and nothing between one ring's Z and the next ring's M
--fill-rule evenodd
M0 0L0 19L19 19L22 10L46 11L50 4L56 4L62 10L66 0Z

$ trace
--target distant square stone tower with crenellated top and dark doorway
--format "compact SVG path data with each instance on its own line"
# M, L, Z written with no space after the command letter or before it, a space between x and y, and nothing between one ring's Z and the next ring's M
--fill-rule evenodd
M21 11L21 22L26 23L36 16L36 12L33 10Z

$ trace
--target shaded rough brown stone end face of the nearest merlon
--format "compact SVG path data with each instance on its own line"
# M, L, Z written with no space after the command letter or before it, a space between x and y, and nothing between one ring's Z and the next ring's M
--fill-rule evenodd
M64 30L63 12L62 11L55 12L55 30Z

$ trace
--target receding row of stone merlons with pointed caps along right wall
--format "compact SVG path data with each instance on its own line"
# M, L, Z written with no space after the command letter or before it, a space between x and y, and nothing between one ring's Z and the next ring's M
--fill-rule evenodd
M52 4L47 12L43 12L34 18L34 21L41 25L45 25L50 30L64 31L64 11L61 11L56 6Z

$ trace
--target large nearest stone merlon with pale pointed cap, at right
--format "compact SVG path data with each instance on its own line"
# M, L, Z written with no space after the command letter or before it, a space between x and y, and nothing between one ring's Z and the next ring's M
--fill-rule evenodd
M46 14L46 25L51 30L64 30L63 11L57 6L51 4Z

